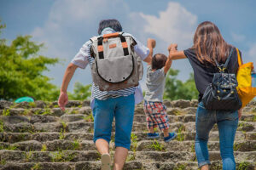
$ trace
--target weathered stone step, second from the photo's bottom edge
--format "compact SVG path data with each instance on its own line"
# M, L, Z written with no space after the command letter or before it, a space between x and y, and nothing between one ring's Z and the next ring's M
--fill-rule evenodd
M112 152L113 155L113 152ZM211 161L220 161L219 151L209 151ZM256 151L241 152L235 151L236 161L256 161ZM5 162L79 162L100 160L100 155L96 151L18 151L18 150L0 150L0 160ZM129 160L130 159L130 160ZM195 153L186 151L136 151L129 152L128 161L143 162L174 162L196 161Z

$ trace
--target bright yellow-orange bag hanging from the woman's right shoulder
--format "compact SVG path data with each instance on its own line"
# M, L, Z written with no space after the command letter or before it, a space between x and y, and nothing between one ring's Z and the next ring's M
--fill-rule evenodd
M238 48L236 48L238 58L238 71L236 79L238 82L237 93L241 99L242 107L246 106L255 96L256 88L252 87L252 71L253 62L241 65L241 56Z

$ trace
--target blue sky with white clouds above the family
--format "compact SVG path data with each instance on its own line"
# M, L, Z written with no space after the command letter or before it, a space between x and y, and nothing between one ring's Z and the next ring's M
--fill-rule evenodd
M144 44L154 38L154 53L163 54L170 43L179 50L190 48L196 27L210 20L226 42L241 50L244 62L256 63L255 7L255 0L0 0L0 20L6 25L0 36L11 42L32 35L32 41L43 42L40 54L61 59L44 72L60 87L67 65L104 19L119 20L123 31ZM183 81L193 71L188 59L174 61L172 68ZM74 82L90 84L90 67L75 72L68 91Z

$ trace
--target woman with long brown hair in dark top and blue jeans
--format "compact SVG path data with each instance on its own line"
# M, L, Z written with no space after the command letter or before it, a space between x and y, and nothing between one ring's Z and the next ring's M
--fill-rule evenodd
M233 144L241 111L209 111L201 102L207 85L212 82L213 73L218 72L214 59L217 59L218 63L224 64L230 55L231 48L234 47L224 41L218 27L210 21L202 22L197 27L192 48L175 52L170 51L168 48L171 59L188 58L194 71L195 86L199 91L199 105L195 117L195 154L201 170L209 169L210 161L207 141L209 132L215 123L218 124L223 169L236 169ZM233 51L228 65L228 72L236 74L238 70L237 54L236 50Z

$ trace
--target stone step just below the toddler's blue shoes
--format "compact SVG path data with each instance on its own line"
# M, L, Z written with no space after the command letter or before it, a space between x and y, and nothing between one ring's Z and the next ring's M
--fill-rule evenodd
M110 147L114 149L113 143ZM173 140L169 143L159 140L142 140L138 143L132 141L131 147L137 151L195 151L195 141L177 141ZM22 151L57 151L57 150L96 150L92 140L67 140L56 139L47 142L38 142L37 140L27 140L9 144L0 143L0 149L22 150ZM219 150L218 141L209 141L208 150ZM236 140L234 144L235 151L256 151L256 140Z

